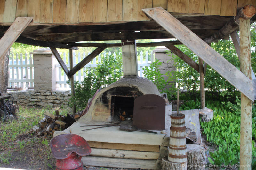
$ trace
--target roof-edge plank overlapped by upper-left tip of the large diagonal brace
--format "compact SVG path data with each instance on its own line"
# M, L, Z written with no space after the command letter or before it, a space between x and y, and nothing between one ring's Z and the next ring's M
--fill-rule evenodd
M144 8L152 8L152 0L137 1L137 21L149 21L147 15L141 11Z

